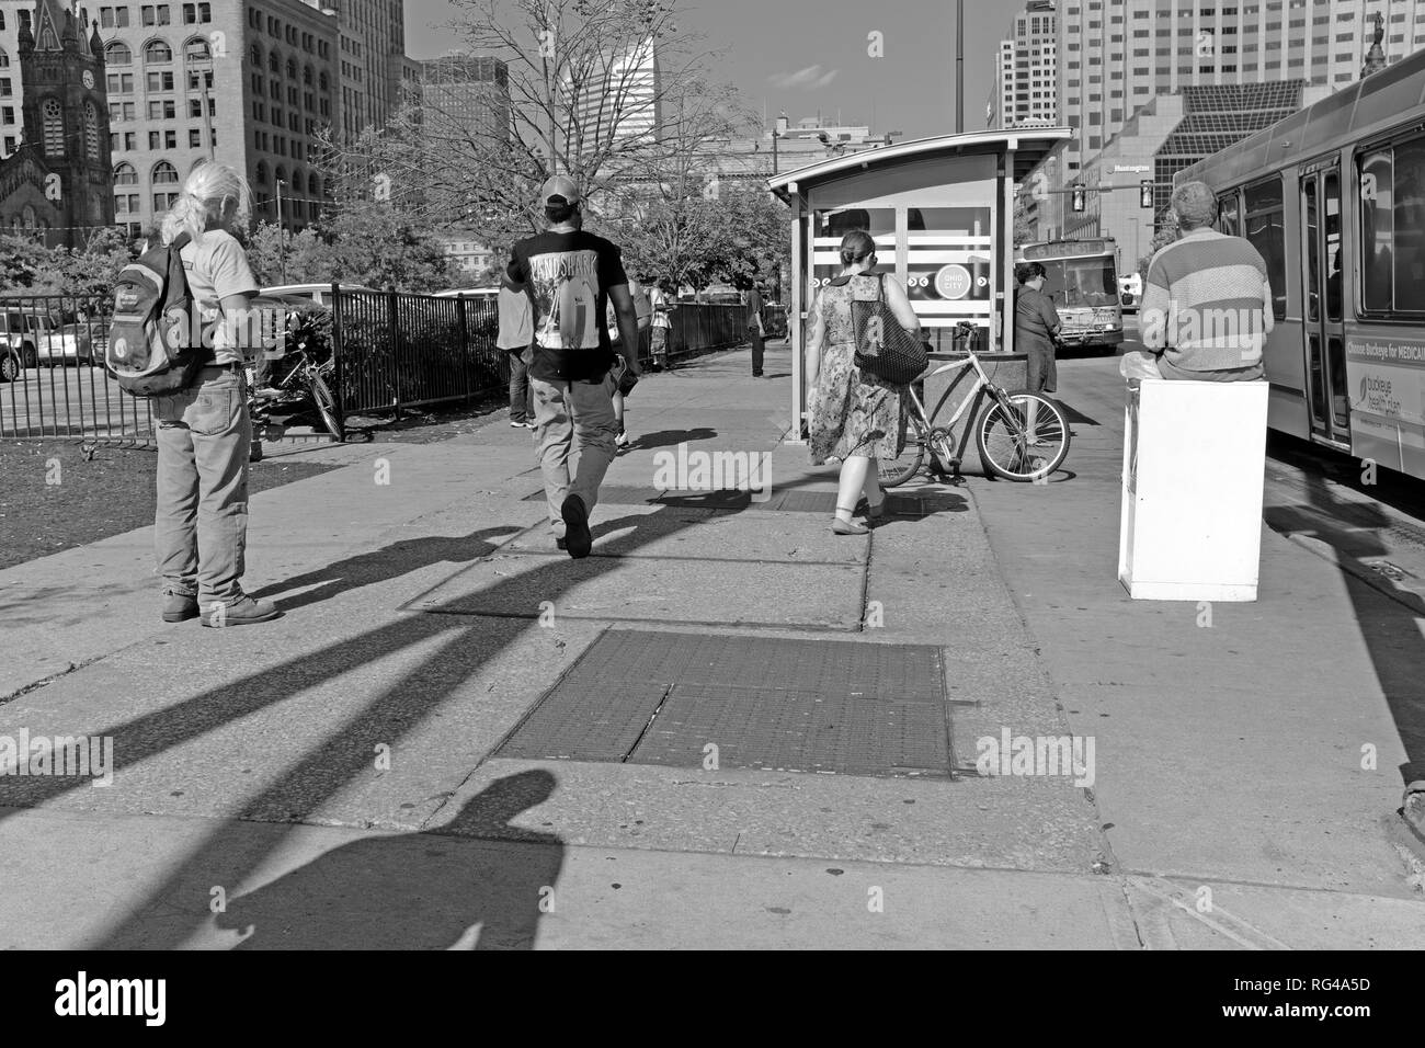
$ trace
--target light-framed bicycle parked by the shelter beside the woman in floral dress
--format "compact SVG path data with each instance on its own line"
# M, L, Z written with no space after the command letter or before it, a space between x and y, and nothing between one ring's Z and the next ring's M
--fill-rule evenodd
M932 419L939 415L940 408L955 389L952 384L935 405L935 411L926 415L925 405L915 392L915 386L908 386L906 394L911 401L911 411L906 413L906 423L911 432L906 433L905 451L896 458L878 458L881 471L881 485L884 488L898 488L915 476L925 462L926 448L931 449L931 466L938 465L940 473L958 476L960 459L955 453L955 441L950 428L960 421L969 406L985 391L985 405L975 419L975 446L979 451L980 462L986 472L1005 481L1040 481L1052 475L1069 455L1069 422L1057 404L1043 394L1020 389L1007 392L995 385L985 368L979 362L979 355L969 352L963 361L952 361L935 371L923 375L921 381L932 375L940 375L958 368L973 368L975 382L965 399L955 409L949 422L943 426L932 425ZM1027 409L1035 406L1035 439L1029 439Z

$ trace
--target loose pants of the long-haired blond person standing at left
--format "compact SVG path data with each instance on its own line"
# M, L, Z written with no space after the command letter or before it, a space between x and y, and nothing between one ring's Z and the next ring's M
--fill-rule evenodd
M241 372L202 368L192 386L154 399L158 421L158 573L172 593L242 597L252 422Z

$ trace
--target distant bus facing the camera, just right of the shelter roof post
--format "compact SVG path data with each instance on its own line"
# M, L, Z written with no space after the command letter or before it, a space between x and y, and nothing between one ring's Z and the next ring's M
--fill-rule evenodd
M1045 267L1045 294L1063 322L1066 345L1112 349L1123 341L1117 245L1112 237L1025 244L1019 260Z

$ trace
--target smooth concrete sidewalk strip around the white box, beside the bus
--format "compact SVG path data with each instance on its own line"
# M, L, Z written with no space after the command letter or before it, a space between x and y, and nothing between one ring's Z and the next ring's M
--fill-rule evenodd
M1107 362L1083 365L1060 369L1060 395L1106 425L1074 445L1074 485L973 498L1069 723L1097 739L1094 797L1117 861L1414 897L1382 833L1406 751L1381 673L1389 657L1418 667L1418 625L1387 657L1359 629L1389 602L1270 530L1254 605L1127 600L1114 577L1121 463L1107 453L1121 439L1107 405L1120 391L1089 381ZM1082 453L1100 445L1097 461ZM1056 528L1037 526L1040 513Z

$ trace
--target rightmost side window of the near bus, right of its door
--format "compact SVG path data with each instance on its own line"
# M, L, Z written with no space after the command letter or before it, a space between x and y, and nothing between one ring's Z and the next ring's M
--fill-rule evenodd
M1425 312L1425 138L1357 155L1361 302L1372 314Z

